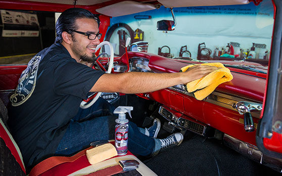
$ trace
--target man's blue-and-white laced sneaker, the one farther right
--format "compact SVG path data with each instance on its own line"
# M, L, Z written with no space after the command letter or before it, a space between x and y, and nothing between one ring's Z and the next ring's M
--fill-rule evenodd
M160 139L161 141L161 150L164 151L165 149L177 146L181 144L183 141L183 135L181 133L174 133L167 138Z

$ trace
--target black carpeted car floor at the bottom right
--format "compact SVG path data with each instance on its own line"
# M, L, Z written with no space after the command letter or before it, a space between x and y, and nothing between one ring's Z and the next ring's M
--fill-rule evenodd
M201 136L143 162L158 175L281 175L218 140Z

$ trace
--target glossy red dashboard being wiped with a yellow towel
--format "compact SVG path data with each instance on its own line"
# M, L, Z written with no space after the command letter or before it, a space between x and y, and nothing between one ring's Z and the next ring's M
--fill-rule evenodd
M187 64L197 64L199 61L187 61L179 59L170 59L159 55L144 52L128 52L129 60L147 59L148 66L152 72L178 72L181 67ZM126 63L126 57L120 59L122 64ZM231 64L232 61L220 61L221 63ZM236 62L235 62L236 63ZM244 65L260 64L253 62L240 63ZM131 64L132 66L132 64ZM229 68L229 67L228 67ZM229 68L233 79L229 82L220 84L216 90L203 101L198 101L193 94L179 91L175 87L169 87L164 90L139 94L145 99L151 99L164 105L173 116L180 119L189 119L199 124L205 124L213 127L232 137L256 145L256 129L254 132L244 130L244 115L240 115L234 104L239 101L250 101L262 103L266 84L266 74L243 70L238 68ZM255 86L254 86L255 85ZM260 112L252 113L255 128L260 118Z

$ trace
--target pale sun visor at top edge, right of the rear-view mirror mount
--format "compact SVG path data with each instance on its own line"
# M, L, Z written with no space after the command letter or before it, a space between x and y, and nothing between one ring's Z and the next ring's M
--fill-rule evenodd
M166 8L249 4L249 0L158 0Z

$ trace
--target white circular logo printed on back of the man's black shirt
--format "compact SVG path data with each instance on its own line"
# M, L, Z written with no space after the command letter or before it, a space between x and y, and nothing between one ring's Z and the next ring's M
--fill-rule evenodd
M31 96L35 88L36 75L41 56L34 56L23 70L15 93L10 97L12 106L23 104Z

